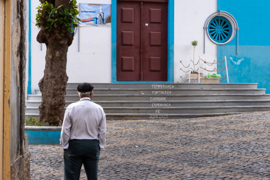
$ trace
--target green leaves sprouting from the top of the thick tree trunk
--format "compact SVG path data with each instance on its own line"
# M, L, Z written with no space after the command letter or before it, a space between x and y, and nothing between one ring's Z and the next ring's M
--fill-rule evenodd
M57 26L60 26L62 29L67 29L68 32L73 33L73 27L78 26L77 23L80 21L76 15L79 14L77 10L78 6L76 5L76 0L70 0L71 8L68 10L67 7L64 7L63 10L60 9L63 5L58 6L57 8L53 7L53 4L42 3L36 9L38 13L36 14L36 26L40 28L41 20L44 20L46 28L48 31L54 30Z

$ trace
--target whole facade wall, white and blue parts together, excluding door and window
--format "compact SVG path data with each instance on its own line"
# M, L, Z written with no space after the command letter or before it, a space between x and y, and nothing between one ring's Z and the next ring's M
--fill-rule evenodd
M38 1L31 1L31 20L35 22L35 7ZM80 0L78 3L96 3L95 0ZM99 3L111 4L111 0ZM262 5L264 4L264 5ZM229 82L255 82L259 88L268 88L270 41L267 30L270 26L262 17L268 16L269 1L259 0L175 0L174 1L174 82L179 82L179 59L187 66L193 57L191 41L198 41L195 48L195 61L200 56L213 62L220 61L226 55ZM236 8L241 7L241 8ZM205 35L205 54L203 53L203 26L207 17L217 10L226 11L235 17L239 30L239 54L236 55L236 36L226 45L216 45ZM38 89L43 76L46 47L35 40L38 28L31 23L31 77L32 93ZM111 28L81 27L80 52L78 52L78 32L68 51L68 82L112 82L111 67ZM204 64L201 66L204 67ZM223 67L223 65L222 65ZM195 69L197 69L196 67ZM214 67L212 67L214 68ZM220 69L221 66L218 67ZM183 68L187 71L187 69ZM210 68L211 70L211 68ZM170 71L170 70L169 70ZM225 75L225 71L220 73ZM185 77L185 73L181 73ZM180 81L183 82L183 81ZM226 82L226 79L224 80ZM270 93L268 88L267 93Z

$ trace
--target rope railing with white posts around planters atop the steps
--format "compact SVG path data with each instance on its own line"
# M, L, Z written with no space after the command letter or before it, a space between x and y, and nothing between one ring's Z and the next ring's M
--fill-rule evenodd
M200 67L200 61L204 62L205 68ZM217 65L217 64L220 65L220 64L223 64L224 62L225 62L225 67L223 67L223 68L221 68L221 69L217 69L216 67L214 67L213 70L209 70L209 69L207 68L207 65L208 65L208 66ZM191 63L193 64L194 69L195 69L195 65L198 65L198 64L199 64L199 67L198 67L196 70L193 70L193 68L191 67L191 66L192 66ZM188 68L189 70L185 71L185 70L183 70L183 69L181 68L181 66L183 66L184 68ZM220 81L223 81L224 79L227 78L227 82L229 83L226 56L225 56L221 61L217 61L217 59L215 59L215 60L213 61L213 63L207 62L206 59L203 60L203 59L201 59L200 56L199 56L199 59L198 59L198 61L197 61L196 64L195 64L194 61L190 58L190 61L189 61L189 65L188 65L188 66L184 66L183 62L179 59L179 69L180 69L180 72L179 72L179 82L180 82L181 79L182 79L182 81L184 81L184 82L187 82L187 81L188 81L188 83L190 83L190 79L198 79L198 82L199 82L199 83L200 83L200 79L213 79L213 78L206 77L206 73L207 73L207 72L222 72L222 71L224 71L224 70L226 69L226 75L223 76L223 77L220 77L220 78L216 78L216 79L219 79ZM203 74L203 73L200 73L200 69L205 70L205 76L201 75L201 74ZM191 76L191 73L190 73L190 72L193 72L193 71L194 71L194 72L198 72L198 74L196 73L197 76L195 75L196 77L194 77L193 75ZM181 72L188 73L188 74L187 74L188 77L187 77L186 80L183 79L183 77L181 76ZM194 74L194 73L193 73L193 74ZM223 78L223 79L222 79L222 78Z

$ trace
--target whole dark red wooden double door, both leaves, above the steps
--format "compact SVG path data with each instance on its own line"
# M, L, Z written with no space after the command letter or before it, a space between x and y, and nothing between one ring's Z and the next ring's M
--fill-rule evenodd
M116 80L167 81L168 4L117 1Z

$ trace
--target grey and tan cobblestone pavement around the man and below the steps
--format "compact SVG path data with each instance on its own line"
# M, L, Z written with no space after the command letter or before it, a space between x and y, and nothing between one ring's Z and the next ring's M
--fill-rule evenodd
M99 180L270 179L270 111L110 120ZM31 179L63 179L59 145L30 145ZM84 170L81 178L86 179Z

